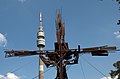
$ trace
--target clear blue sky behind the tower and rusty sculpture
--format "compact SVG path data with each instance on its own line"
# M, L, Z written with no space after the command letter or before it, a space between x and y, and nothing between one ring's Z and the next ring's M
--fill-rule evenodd
M0 0L0 33L6 36L7 46L0 47L0 74L14 72L22 79L32 79L38 75L38 56L5 58L3 49L37 50L36 40L39 27L39 13L43 15L43 28L46 38L44 49L54 49L56 9L62 10L65 21L66 41L70 48L102 45L120 47L120 38L116 25L120 18L118 5L112 0ZM86 54L80 57L79 64L69 68L69 79L101 79L103 75L93 69L86 59L102 73L109 76L112 64L120 60L120 53L108 57L92 57ZM26 64L28 63L28 64ZM45 68L45 70L47 70ZM45 79L55 78L55 68L45 73ZM36 78L37 79L37 78Z

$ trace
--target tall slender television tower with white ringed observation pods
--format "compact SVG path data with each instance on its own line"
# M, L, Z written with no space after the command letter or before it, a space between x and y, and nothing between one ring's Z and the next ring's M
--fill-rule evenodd
M39 48L39 53L42 52L43 47L45 47L45 35L42 27L42 14L40 13L40 26L37 33L37 47ZM44 64L40 58L39 54L39 79L44 79Z

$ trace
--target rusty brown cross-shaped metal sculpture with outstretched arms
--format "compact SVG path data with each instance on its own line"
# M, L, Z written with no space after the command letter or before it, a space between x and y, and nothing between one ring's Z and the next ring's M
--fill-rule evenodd
M78 64L80 54L91 53L92 56L108 56L109 51L116 50L116 46L100 46L92 48L70 49L68 43L65 42L65 24L62 22L60 12L57 13L56 19L56 37L57 42L54 43L53 51L5 51L6 57L13 56L31 56L40 55L41 60L46 67L56 67L57 74L55 79L68 79L66 66Z

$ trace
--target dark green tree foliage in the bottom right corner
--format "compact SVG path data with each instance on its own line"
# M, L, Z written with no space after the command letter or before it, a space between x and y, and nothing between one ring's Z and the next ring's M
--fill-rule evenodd
M116 70L111 70L110 76L111 78L115 78L118 76L118 79L120 79L120 61L117 61L116 63L113 64Z

